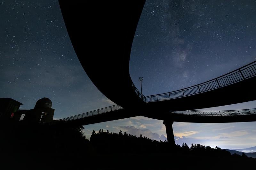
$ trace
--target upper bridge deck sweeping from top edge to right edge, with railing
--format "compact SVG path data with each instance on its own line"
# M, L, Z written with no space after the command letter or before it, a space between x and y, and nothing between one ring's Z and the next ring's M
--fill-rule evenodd
M186 89L141 96L129 74L129 59L144 3L60 1L76 55L100 92L116 104L142 110L141 115L151 118L156 111L192 110L256 100L255 62ZM86 6L90 9L84 10ZM99 17L92 17L94 13Z

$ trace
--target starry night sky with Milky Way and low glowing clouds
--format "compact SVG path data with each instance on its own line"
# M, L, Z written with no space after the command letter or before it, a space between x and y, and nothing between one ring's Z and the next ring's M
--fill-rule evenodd
M145 96L189 87L256 60L255 1L146 1L134 36L130 75ZM54 118L111 106L84 72L74 52L58 1L0 1L0 97L31 109L48 97ZM246 102L203 110L255 108ZM174 122L176 144L221 148L256 146L255 122ZM162 121L147 117L97 123L92 129L120 129L165 140Z

